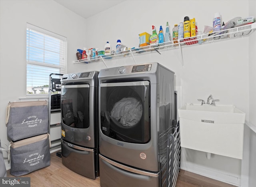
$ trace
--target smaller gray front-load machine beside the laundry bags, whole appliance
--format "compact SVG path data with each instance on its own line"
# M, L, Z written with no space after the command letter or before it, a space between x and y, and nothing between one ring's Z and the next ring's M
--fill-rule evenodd
M66 74L61 79L62 163L91 179L99 176L98 74Z

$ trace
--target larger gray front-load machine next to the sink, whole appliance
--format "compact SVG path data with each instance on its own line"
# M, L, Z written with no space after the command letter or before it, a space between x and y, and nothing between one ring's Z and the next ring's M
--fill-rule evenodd
M98 78L101 187L166 186L174 72L146 63L103 69Z

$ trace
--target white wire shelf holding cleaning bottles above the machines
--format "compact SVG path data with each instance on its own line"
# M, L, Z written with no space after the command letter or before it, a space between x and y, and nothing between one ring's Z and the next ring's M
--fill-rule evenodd
M227 30L222 30L220 32L216 32L214 34L201 34L197 35L196 37L190 37L186 38L183 41L179 41L178 44L173 44L171 42L164 42L162 44L156 44L154 46L145 46L141 48L132 48L130 50L118 52L118 53L112 53L108 56L97 56L95 58L91 59L82 59L82 60L75 60L73 61L74 64L88 64L91 62L104 62L105 66L108 68L108 66L105 63L105 60L112 60L114 58L125 58L129 55L132 56L134 59L135 55L144 54L148 52L158 52L160 54L160 51L164 50L171 50L171 49L177 49L180 50L180 56L181 56L181 64L182 68L184 68L183 63L183 57L182 57L182 51L181 49L188 46L194 46L194 45L200 45L200 44L206 44L211 42L218 42L223 40L228 40L232 38L238 38L238 37L244 37L248 36L252 31L256 30L256 22L252 24L247 24L240 27L235 27ZM185 41L186 40L186 41ZM136 64L136 60L134 59L134 62Z

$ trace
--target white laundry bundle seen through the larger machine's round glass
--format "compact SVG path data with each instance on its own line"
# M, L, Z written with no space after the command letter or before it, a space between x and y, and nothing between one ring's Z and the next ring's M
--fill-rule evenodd
M110 113L124 127L136 125L142 117L142 103L134 97L124 97L114 104Z

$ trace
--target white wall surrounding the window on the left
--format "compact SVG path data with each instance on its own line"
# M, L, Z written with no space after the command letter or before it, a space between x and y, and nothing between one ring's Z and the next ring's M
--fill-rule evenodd
M53 0L0 0L0 137L9 144L5 115L8 102L26 97L26 23L65 36L68 41L68 70L82 37L86 20ZM6 147L5 147L6 148ZM7 154L4 153L4 157ZM6 165L10 169L10 164Z

